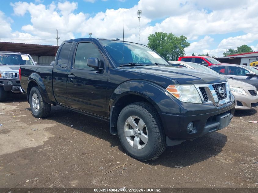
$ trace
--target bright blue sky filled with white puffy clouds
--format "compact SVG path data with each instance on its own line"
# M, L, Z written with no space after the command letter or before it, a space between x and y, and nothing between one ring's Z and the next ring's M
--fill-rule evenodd
M220 57L243 44L258 51L257 0L0 0L0 41L59 45L73 38L120 38L147 45L162 31L184 35L186 55ZM123 18L124 15L124 18Z

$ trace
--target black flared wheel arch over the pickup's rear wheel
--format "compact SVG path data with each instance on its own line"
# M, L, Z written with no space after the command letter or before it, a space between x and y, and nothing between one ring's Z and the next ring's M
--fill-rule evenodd
M49 99L49 96L47 94L42 77L38 73L31 73L30 76L28 77L27 85L29 85L31 81L34 81L38 85L38 88L42 94L44 101L51 104L51 100ZM28 92L28 89L30 89L29 86L27 86L27 95L29 99L30 93Z

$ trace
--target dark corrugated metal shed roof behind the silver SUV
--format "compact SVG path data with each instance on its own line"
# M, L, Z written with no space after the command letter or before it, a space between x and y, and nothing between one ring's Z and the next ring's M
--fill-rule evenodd
M0 51L21 52L37 56L56 56L59 46L0 42Z

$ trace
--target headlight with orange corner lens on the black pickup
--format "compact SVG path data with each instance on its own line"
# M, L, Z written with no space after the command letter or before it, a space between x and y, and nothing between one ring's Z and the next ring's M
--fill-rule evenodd
M194 85L169 85L166 91L182 102L202 103Z

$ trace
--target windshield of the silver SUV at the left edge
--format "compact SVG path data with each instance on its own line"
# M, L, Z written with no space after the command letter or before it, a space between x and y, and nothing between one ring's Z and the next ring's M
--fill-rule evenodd
M0 65L33 65L28 55L0 54Z

